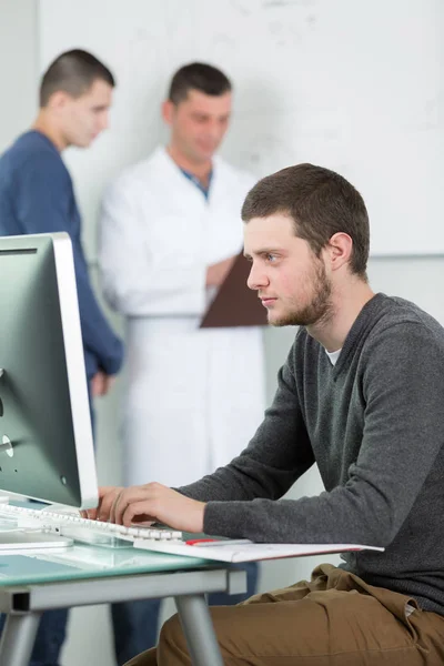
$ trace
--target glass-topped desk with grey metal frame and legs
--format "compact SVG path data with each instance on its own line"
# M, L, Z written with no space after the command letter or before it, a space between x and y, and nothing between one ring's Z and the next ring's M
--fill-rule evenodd
M1 666L28 666L40 616L51 608L173 596L195 666L223 666L205 593L245 592L245 572L220 563L74 545L0 555Z

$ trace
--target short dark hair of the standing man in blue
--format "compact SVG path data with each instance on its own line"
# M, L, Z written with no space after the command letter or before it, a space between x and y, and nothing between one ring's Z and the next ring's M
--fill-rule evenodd
M48 104L54 92L62 90L78 98L91 88L97 80L109 83L114 88L114 77L110 70L92 53L74 49L61 53L49 65L40 84L40 107Z

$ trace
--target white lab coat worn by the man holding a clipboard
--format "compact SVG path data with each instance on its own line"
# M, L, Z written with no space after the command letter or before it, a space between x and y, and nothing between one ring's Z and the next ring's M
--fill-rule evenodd
M253 184L215 158L205 201L159 148L105 193L102 286L127 317L127 484L195 481L238 455L262 421L261 329L199 329L206 269L241 250Z

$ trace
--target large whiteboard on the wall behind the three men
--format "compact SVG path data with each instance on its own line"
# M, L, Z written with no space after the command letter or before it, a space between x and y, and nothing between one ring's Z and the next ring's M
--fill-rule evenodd
M221 67L235 103L222 154L258 178L299 162L363 194L373 255L444 252L442 0L40 0L39 67L84 48L115 73L111 129L67 151L94 256L104 184L165 140L172 72Z

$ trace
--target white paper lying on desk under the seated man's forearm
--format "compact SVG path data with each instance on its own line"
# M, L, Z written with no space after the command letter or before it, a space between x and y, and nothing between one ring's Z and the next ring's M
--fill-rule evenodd
M323 553L344 553L346 551L379 551L384 548L377 546L363 546L357 544L239 544L233 539L224 541L223 545L206 544L186 545L168 542L154 542L142 538L134 539L134 548L144 551L157 551L174 555L201 557L203 559L218 559L219 562L255 562L259 559L279 559L280 557L302 557L303 555L321 555Z

